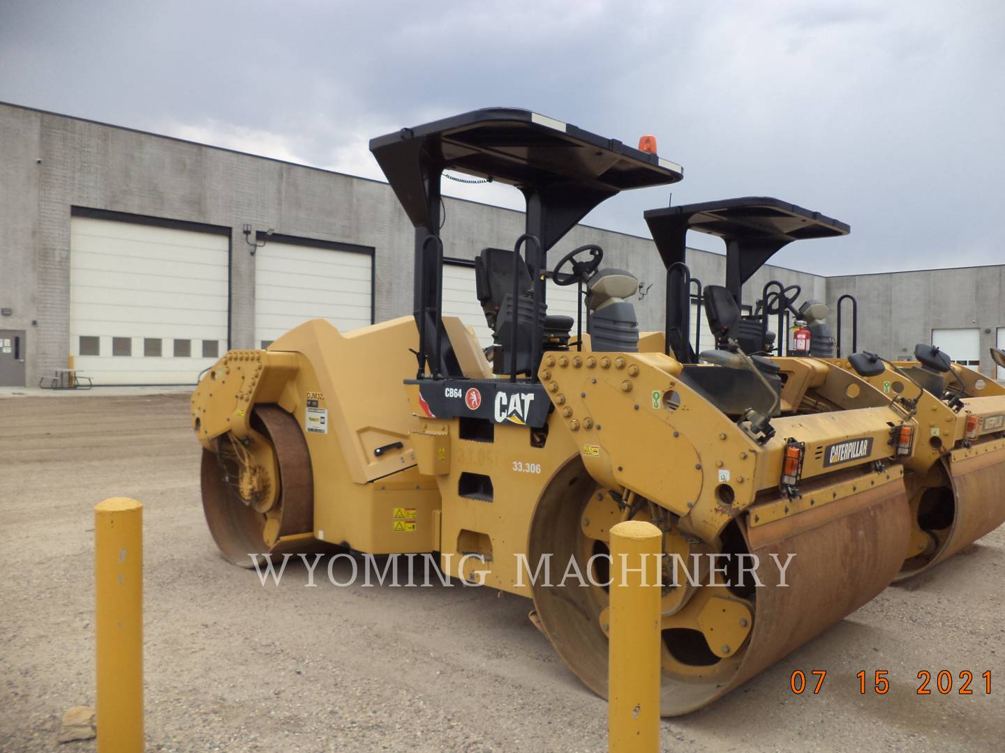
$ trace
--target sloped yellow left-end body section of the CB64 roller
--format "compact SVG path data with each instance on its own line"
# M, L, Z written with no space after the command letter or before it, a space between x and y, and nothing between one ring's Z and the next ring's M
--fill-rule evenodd
M375 554L433 551L439 493L416 468L409 433L418 422L401 385L414 369L408 346L415 336L410 316L348 334L314 319L268 350L231 350L192 396L196 435L207 452L229 434L251 438L248 449L267 454L268 444L255 439L252 409L274 404L303 431L314 485L313 526L286 536ZM395 443L402 447L375 452ZM276 488L271 466L259 467ZM264 543L262 553L278 540L266 535Z

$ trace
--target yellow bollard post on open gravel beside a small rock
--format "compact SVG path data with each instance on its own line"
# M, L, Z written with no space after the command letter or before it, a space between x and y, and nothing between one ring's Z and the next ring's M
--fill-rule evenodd
M143 505L135 499L94 507L94 601L97 750L142 751Z

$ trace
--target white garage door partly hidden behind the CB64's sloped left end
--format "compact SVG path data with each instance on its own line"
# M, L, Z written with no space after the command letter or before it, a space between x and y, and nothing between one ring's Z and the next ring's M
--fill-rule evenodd
M373 323L368 253L268 241L255 253L255 340L272 340L309 319L341 331Z

